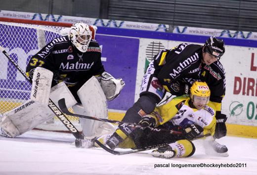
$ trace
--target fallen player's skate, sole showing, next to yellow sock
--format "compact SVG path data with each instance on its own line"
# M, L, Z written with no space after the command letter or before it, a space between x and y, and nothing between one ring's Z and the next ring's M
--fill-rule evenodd
M176 152L172 150L171 146L164 146L153 150L151 155L154 157L170 159L176 155Z

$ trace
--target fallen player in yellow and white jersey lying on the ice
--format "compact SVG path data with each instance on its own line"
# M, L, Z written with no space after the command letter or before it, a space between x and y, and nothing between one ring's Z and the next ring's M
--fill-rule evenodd
M149 126L165 130L151 130L149 127L142 130L142 128L122 124L118 126L114 134L95 139L111 149L116 147L138 149L170 143L154 150L152 155L164 158L189 157L195 152L195 146L190 140L206 134L214 135L216 109L215 105L209 101L210 95L210 89L205 82L195 82L190 89L190 97L176 97L171 102L156 107L151 114L143 116L139 122L143 127ZM181 131L182 135L175 135L170 130ZM215 141L207 142L215 144ZM78 139L76 140L76 146L94 147L98 145L94 142L94 139ZM213 148L211 145L207 146ZM227 152L225 146L222 152Z

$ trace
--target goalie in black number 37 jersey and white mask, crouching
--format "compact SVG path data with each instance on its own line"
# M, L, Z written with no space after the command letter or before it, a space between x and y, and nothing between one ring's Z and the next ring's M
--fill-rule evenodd
M31 57L26 69L33 82L31 97L3 114L1 136L14 138L52 119L54 113L47 106L49 97L54 104L65 98L66 105L76 113L107 118L106 98L116 98L125 83L105 71L101 48L94 40L95 31L95 26L75 23ZM98 110L94 110L96 106ZM99 126L99 122L83 118L80 123L85 136L95 135L90 128Z

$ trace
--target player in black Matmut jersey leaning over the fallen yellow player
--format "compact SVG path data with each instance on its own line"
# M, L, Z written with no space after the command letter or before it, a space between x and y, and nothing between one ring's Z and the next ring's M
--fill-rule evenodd
M189 94L193 82L205 81L212 92L210 100L217 109L214 138L224 137L226 115L221 114L220 109L225 94L225 71L219 62L224 52L223 40L214 36L205 45L182 43L170 50L162 50L149 64L143 76L140 98L129 108L122 121L140 123L142 117L150 114L160 103L166 92L175 96Z

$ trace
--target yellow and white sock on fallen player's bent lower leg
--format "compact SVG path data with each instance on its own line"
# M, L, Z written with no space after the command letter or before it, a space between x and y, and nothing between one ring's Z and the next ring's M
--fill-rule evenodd
M176 152L176 157L190 157L195 153L195 146L189 140L178 140L169 145Z

